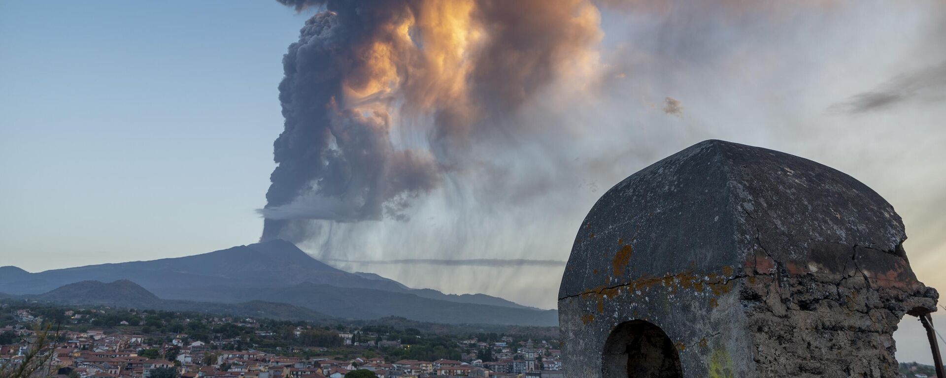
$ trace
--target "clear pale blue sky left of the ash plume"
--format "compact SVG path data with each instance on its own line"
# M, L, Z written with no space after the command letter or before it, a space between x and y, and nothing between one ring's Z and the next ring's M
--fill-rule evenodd
M0 2L0 253L37 271L254 242L307 18L266 1Z

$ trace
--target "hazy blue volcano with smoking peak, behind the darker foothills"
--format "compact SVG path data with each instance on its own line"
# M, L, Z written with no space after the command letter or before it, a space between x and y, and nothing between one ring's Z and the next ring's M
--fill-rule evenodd
M3 269L8 269L10 274ZM68 283L117 280L133 280L163 298L185 299L185 293L194 287L285 287L322 283L413 293L441 301L526 308L484 294L447 295L431 289L412 289L374 273L349 273L325 265L280 239L193 256L69 267L39 273L28 273L15 266L0 268L0 287L8 294L39 294Z

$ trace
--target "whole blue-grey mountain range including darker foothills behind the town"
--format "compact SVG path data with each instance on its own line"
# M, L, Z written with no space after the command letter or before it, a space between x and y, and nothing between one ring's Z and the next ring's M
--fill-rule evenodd
M285 309L289 314L282 315L284 318L325 314L354 319L396 316L452 324L557 324L553 310L483 294L447 295L412 289L374 273L349 273L327 266L283 240L194 256L39 273L5 266L0 273L0 291L61 303L201 310L193 308L193 301L201 301L201 305L275 301L295 306ZM132 282L148 294L135 291L129 284ZM270 311L274 308L266 307ZM250 311L245 304L226 310Z

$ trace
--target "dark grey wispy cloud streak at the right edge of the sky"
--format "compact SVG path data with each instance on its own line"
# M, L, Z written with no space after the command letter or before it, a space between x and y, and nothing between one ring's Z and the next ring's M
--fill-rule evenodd
M828 112L877 112L905 102L946 99L946 62L898 75L873 91L854 94L828 107Z

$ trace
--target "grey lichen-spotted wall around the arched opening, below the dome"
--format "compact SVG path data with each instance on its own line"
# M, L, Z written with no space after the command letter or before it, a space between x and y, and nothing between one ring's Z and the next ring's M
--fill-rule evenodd
M610 336L622 324L638 319L666 333L678 353L683 377L754 376L740 301L744 281L745 277L730 279L723 272L684 271L562 299L559 323L566 376L611 378L604 372L620 369L606 365L612 360L607 354L615 352L606 347Z

